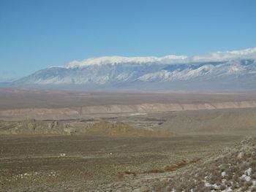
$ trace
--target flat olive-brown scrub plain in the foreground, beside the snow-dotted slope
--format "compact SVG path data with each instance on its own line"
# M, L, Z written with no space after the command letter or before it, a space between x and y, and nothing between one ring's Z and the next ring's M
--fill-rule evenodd
M119 173L147 172L195 158L206 159L241 138L1 136L0 191L133 191L143 187L142 183L126 188L128 183L150 180L158 174L126 175L125 180L119 180Z

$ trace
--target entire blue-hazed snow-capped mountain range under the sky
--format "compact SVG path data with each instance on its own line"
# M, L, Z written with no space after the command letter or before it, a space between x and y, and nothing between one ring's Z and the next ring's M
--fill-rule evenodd
M54 88L256 88L256 48L206 55L110 56L51 66L12 82Z

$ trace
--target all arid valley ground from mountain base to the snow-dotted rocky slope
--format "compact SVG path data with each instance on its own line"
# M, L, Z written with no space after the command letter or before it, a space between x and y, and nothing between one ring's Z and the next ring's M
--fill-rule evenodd
M0 191L164 191L256 134L255 107L255 93L3 88Z

